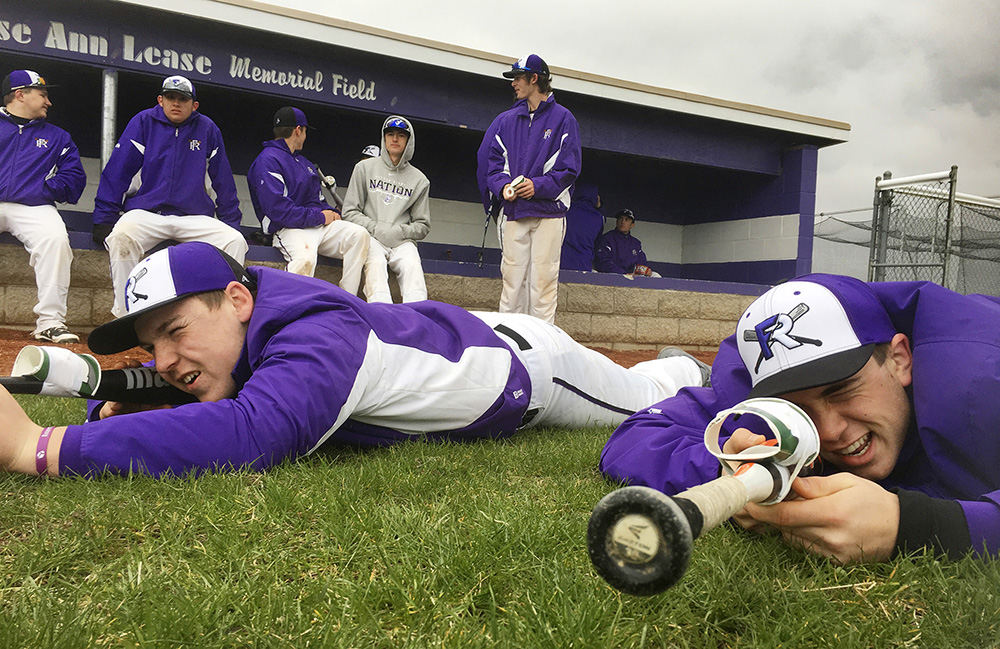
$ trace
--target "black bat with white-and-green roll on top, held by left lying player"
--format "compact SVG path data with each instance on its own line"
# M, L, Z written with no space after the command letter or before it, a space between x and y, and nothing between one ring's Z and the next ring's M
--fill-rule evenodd
M28 345L14 360L13 376L0 377L12 394L41 394L124 401L149 405L191 403L196 399L173 387L151 367L101 370L90 354L64 347Z

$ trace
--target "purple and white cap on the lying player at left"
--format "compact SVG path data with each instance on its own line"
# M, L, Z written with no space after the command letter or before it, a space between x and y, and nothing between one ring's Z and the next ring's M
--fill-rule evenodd
M125 283L128 313L90 332L87 346L95 354L115 354L136 347L136 318L189 295L222 290L230 282L254 288L246 269L211 244L193 241L158 250L129 273Z

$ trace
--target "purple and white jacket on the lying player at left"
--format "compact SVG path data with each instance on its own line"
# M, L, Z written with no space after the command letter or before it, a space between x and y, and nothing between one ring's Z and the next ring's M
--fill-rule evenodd
M527 370L493 329L464 309L431 301L367 304L311 277L259 267L248 272L258 291L233 372L236 397L69 426L60 473L93 477L132 470L159 476L229 466L263 470L310 452L331 430L330 440L364 446L412 439L412 434L351 418L363 419L379 409L355 411L370 349L395 353L396 358L410 353L417 362L432 355L452 363L470 350L502 350L510 368L493 403L463 428L421 437L503 437L520 425L531 394ZM372 347L373 337L382 343ZM366 367L382 362L368 360ZM470 389L475 379L466 377L462 387ZM442 412L450 395L426 409ZM462 396L456 390L453 398Z

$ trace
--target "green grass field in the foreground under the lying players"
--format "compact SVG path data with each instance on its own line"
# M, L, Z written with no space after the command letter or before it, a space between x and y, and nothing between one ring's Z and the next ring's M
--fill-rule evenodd
M0 476L0 647L1000 646L1000 562L845 568L718 529L672 590L617 593L584 539L609 434L199 479Z

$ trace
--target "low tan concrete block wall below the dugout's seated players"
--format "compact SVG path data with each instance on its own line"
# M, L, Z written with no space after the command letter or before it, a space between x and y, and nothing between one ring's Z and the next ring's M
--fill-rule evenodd
M108 255L98 250L74 250L73 255L67 324L83 333L111 318ZM280 267L269 262L261 265ZM320 266L317 277L335 283L340 280L340 267ZM395 280L391 289L398 301ZM432 300L495 311L501 284L494 277L430 273L427 290ZM0 325L32 327L35 301L35 277L27 253L18 245L0 244ZM579 342L610 349L678 345L714 350L733 332L736 319L751 301L753 296L747 295L563 282L556 324Z

